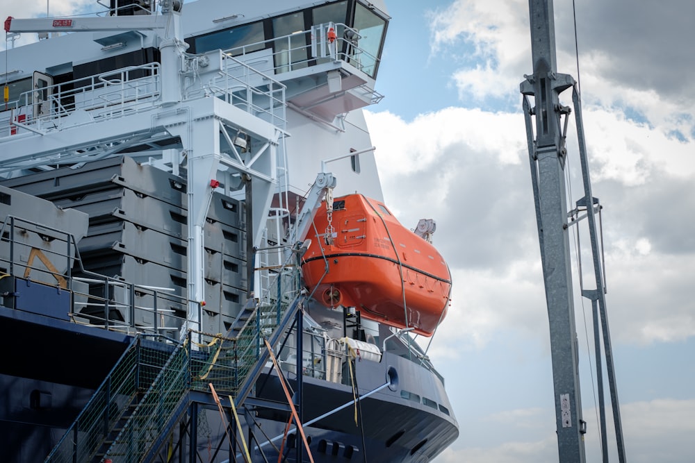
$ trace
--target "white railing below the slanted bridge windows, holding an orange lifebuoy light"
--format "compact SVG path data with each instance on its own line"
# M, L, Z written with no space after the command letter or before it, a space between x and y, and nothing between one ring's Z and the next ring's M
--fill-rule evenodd
M336 33L333 42L327 37L330 28ZM357 29L346 24L326 23L314 26L308 31L245 44L227 49L225 52L243 59L245 56L258 56L259 51L272 50L270 60L254 63L254 67L265 74L277 75L326 62L343 61L372 77L379 58L359 46L361 38Z

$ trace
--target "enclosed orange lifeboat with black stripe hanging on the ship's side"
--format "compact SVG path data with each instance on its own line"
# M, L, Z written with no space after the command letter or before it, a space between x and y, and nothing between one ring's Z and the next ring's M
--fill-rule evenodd
M449 268L434 246L402 226L384 204L361 194L335 199L330 215L329 223L325 205L319 208L316 229L306 236L311 245L302 274L314 297L432 336L451 292Z

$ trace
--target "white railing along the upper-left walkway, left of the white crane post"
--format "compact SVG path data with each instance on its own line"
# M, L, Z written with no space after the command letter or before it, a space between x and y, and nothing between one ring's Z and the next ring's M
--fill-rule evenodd
M50 133L149 110L161 92L159 74L152 62L23 92L9 103L13 110L0 113L0 137L22 133L22 126Z

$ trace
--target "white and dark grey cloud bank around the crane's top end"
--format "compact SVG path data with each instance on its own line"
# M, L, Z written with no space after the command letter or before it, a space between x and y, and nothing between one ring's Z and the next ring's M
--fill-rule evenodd
M585 103L600 104L614 117L636 115L662 137L692 139L695 83L678 76L692 73L692 60L679 44L692 43L695 33L673 24L692 17L694 4L608 3L591 0L577 6L580 71L572 7L555 4L557 71L581 78ZM452 53L461 63L452 74L461 101L518 101L518 83L532 71L528 18L523 0L456 0L432 13L432 53ZM471 55L461 56L461 42L473 50Z

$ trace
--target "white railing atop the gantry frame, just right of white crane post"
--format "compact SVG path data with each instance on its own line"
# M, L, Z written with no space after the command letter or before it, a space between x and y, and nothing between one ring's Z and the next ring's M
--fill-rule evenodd
M188 56L195 62L195 55ZM210 59L215 55L206 53L205 56ZM218 71L206 75L203 83L188 87L183 99L215 96L274 126L284 128L286 86L272 75L264 74L224 51L218 51L216 59L219 60L218 65L209 66Z

